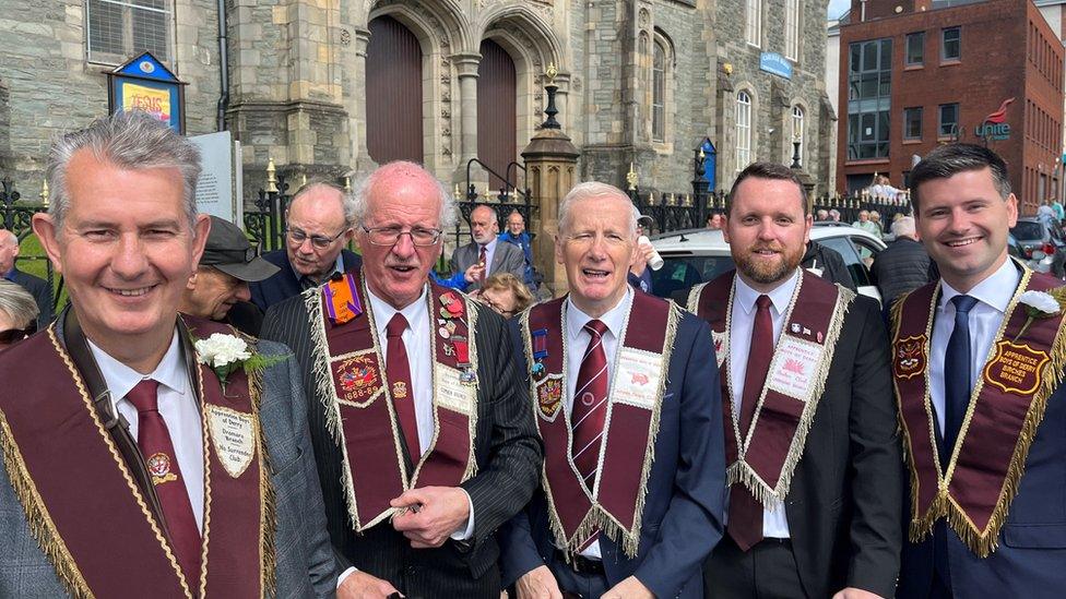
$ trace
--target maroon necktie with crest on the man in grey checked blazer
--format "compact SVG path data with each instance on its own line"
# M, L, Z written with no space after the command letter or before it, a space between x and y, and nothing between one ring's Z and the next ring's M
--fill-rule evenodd
M152 484L159 498L166 520L164 525L170 532L175 556L189 587L199 588L200 528L192 515L189 491L178 467L170 432L159 415L158 387L158 382L145 379L126 398L137 408L137 444L152 475Z

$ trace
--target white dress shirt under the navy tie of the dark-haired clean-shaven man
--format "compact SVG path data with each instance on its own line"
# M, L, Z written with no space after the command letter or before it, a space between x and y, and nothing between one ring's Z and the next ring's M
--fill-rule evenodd
M992 343L999 332L999 325L1007 313L1007 304L1018 289L1021 273L1009 257L995 273L982 280L967 295L975 298L970 309L970 388L976 382L984 362L988 359ZM951 298L961 295L944 279L940 279L940 299L936 303L936 318L933 321L933 338L929 340L929 399L936 421L944 431L944 357L948 340L955 330L955 303Z

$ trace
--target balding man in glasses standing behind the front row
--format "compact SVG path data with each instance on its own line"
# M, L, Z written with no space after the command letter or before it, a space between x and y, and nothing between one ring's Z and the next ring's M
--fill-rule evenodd
M250 284L256 306L266 310L318 287L333 273L358 269L359 256L344 248L352 240L353 214L351 200L333 184L310 183L297 191L286 213L285 249L263 254L281 271Z

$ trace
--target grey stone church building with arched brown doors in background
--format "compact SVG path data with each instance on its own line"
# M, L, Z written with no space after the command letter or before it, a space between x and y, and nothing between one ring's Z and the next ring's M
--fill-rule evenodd
M186 82L188 134L240 141L246 197L269 159L308 177L411 159L449 188L472 158L506 176L544 120L549 64L579 180L623 185L632 164L642 190L684 192L707 137L727 188L753 160L791 164L798 141L824 192L836 156L826 0L2 4L0 176L24 197L54 136L107 111L104 73L143 50Z

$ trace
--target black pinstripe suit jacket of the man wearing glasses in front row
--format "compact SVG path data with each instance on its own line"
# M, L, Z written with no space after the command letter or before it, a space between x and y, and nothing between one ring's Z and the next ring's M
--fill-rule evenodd
M530 501L543 454L505 321L487 308L476 308L477 475L462 484L473 504L473 537L416 550L388 520L363 535L352 528L341 482L341 453L325 428L322 399L309 375L312 352L304 297L268 310L262 338L288 345L303 369L311 442L341 571L354 565L389 580L408 598L499 597L496 530Z

